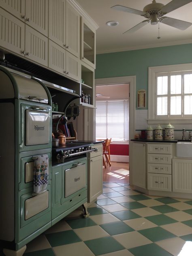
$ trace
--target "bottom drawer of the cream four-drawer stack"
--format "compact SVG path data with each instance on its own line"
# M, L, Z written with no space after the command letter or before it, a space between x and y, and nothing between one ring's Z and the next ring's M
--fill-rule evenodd
M149 190L171 191L171 175L148 173Z

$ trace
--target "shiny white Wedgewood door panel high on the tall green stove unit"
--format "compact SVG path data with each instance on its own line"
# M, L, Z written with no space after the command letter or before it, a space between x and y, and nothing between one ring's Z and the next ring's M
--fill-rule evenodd
M26 110L26 146L49 143L49 113Z

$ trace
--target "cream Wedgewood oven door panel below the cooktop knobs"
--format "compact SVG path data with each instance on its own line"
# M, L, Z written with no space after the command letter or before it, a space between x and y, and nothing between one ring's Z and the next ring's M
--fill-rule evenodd
M65 197L86 186L86 165L81 164L65 170Z

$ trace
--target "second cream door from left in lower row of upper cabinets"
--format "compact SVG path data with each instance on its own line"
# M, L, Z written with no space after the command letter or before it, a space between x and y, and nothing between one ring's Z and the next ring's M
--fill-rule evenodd
M48 38L26 25L26 55L30 60L48 66Z

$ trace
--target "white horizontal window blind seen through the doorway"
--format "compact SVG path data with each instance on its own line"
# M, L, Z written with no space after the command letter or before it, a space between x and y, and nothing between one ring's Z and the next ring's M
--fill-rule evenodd
M96 139L129 140L129 100L96 101Z

